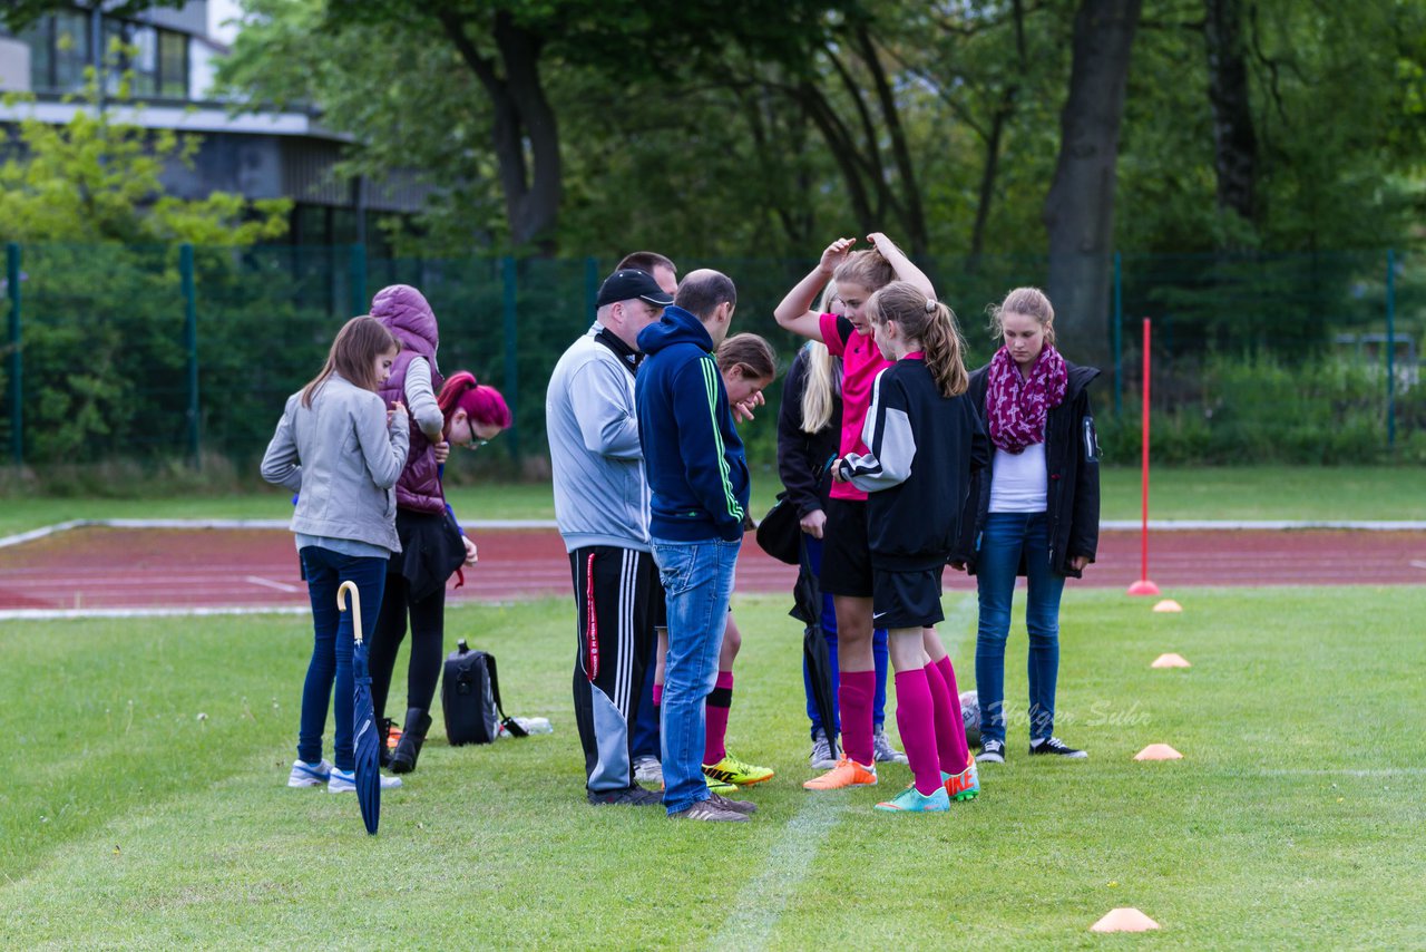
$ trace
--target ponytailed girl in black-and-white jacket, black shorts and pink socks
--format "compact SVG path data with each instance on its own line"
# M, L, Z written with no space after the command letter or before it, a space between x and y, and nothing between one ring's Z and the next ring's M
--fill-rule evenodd
M938 812L951 799L980 794L950 687L954 671L933 625L944 619L941 572L971 472L985 461L985 435L965 397L951 310L906 281L873 294L867 308L877 347L896 363L873 388L863 431L867 452L837 460L833 478L867 494L873 618L887 627L896 719L915 778L877 809Z

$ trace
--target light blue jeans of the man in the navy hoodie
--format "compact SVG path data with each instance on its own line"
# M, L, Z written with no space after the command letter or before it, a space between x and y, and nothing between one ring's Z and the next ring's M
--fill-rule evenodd
M703 779L703 702L717 682L717 655L743 540L653 540L653 561L669 599L663 669L663 805L669 814L707 799Z

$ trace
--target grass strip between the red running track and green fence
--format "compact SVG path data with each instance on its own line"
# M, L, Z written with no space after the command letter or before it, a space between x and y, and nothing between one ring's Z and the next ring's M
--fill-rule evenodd
M1154 471L1151 514L1161 520L1426 520L1420 470L1413 467L1191 467ZM753 474L753 511L766 512L781 485ZM549 484L453 487L462 520L552 520ZM1107 467L1102 517L1139 518L1138 470ZM81 518L285 518L288 497L160 498L0 497L0 535Z

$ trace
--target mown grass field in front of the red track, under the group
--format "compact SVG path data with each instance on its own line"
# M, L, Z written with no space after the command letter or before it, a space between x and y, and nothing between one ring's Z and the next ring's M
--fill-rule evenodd
M585 805L565 601L456 609L448 641L493 651L506 707L555 734L434 739L376 838L349 796L284 786L307 617L6 622L0 945L1420 948L1426 589L1175 594L1182 615L1071 588L1058 732L1089 759L1030 762L1012 725L940 816L870 809L906 768L800 788L800 632L739 599L729 741L779 771L746 825ZM947 607L970 687L974 605ZM1194 667L1151 669L1165 651ZM1185 758L1135 762L1151 742ZM1087 931L1115 906L1162 929Z

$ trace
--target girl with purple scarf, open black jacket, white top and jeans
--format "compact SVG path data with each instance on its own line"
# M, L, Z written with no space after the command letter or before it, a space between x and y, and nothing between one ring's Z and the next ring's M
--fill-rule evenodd
M1024 575L1030 635L1030 754L1084 758L1054 735L1060 674L1060 595L1079 578L1099 541L1099 445L1089 383L1099 375L1055 350L1055 311L1038 288L1015 288L991 308L1001 338L971 374L994 457L965 502L951 567L977 578L975 688L981 764L1005 762L1005 639L1015 577Z

